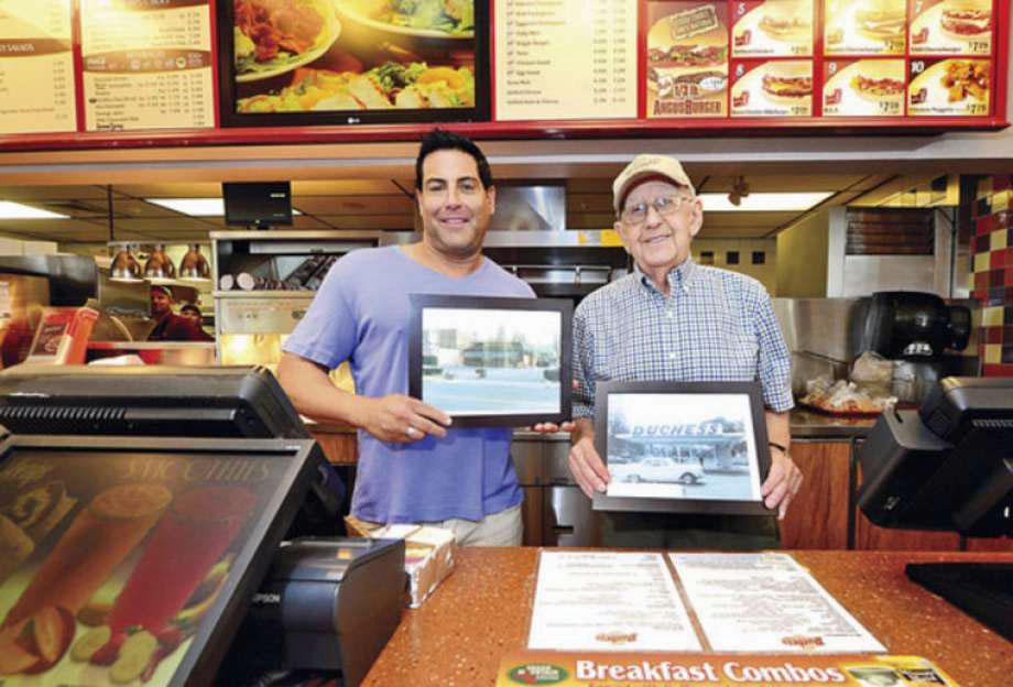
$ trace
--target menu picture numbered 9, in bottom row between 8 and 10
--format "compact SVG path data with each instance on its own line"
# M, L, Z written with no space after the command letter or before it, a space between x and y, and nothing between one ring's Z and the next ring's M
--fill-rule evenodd
M903 59L834 59L824 63L824 116L900 117L904 113Z

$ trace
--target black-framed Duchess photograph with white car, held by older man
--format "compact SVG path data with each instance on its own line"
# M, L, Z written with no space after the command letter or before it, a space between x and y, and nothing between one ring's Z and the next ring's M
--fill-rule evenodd
M759 382L599 382L595 446L612 476L596 511L771 513Z

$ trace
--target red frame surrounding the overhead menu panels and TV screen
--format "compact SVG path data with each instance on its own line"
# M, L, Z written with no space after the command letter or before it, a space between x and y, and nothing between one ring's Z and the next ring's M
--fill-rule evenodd
M222 0L215 0L218 6L230 6ZM227 79L222 74L231 74L231 46L226 45L231 32L221 31L221 7L213 13L213 23L219 29L213 35L213 43L218 50L215 62L219 73L219 124L211 130L150 130L128 132L84 132L81 119L80 89L78 88L78 132L77 133L25 133L0 135L0 151L73 151L86 149L140 149L140 148L193 148L210 145L258 145L258 144L303 144L303 143L341 143L341 142L381 142L417 141L435 126L478 140L593 140L593 139L643 139L643 138L684 138L688 135L759 135L789 139L800 135L935 135L949 131L999 131L1010 126L1007 115L1007 75L1010 59L1010 22L1011 7L1005 0L996 0L993 6L992 34L992 76L989 112L984 116L919 116L908 117L905 92L904 110L900 116L883 117L827 117L823 113L821 90L824 63L829 59L859 59L854 57L826 57L823 55L823 2L816 2L814 24L814 109L810 117L750 117L727 118L686 118L651 119L643 117L645 101L642 87L638 95L636 119L585 119L585 120L525 120L491 121L492 90L495 88L492 69L493 35L495 26L491 25L495 0L477 0L476 10L483 11L486 19L477 21L476 41L483 47L476 52L476 108L468 113L454 110L402 111L402 112L363 112L353 124L347 123L346 117L338 115L291 115L291 116L253 116L238 118L230 115L235 102L229 100L225 86ZM722 0L725 1L725 0ZM646 0L639 0L643 8ZM639 72L645 72L644 12L640 12L638 28ZM79 28L74 26L75 51L79 53ZM908 41L909 44L909 41ZM906 64L914 59L936 59L937 55L912 55L908 50L903 56ZM731 65L745 58L732 57ZM479 64L484 66L479 67ZM227 69L222 68L222 65ZM75 70L80 83L80 64ZM819 107L817 107L817 105ZM413 116L415 115L415 116ZM435 115L435 117L434 117ZM451 116L457 115L457 119ZM438 118L438 120L437 120ZM400 122L400 123L399 123Z

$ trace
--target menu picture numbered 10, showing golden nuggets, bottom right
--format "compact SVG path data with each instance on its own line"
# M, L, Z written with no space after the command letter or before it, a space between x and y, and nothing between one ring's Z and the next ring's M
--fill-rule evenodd
M983 117L989 113L991 62L913 59L907 111L918 117Z

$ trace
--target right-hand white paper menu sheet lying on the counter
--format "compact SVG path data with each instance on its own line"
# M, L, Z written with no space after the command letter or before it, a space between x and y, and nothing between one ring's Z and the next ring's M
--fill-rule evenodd
M885 652L786 554L668 554L716 652Z

